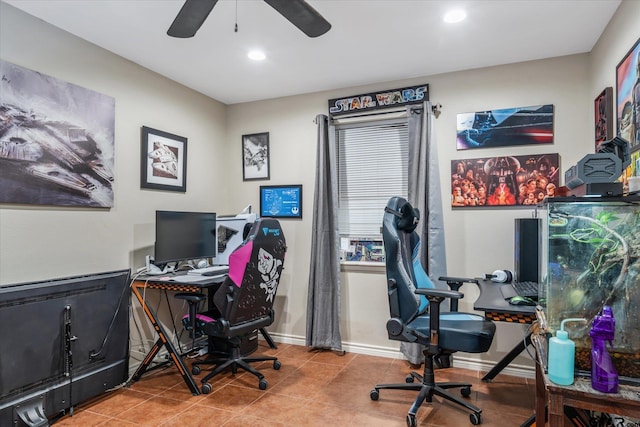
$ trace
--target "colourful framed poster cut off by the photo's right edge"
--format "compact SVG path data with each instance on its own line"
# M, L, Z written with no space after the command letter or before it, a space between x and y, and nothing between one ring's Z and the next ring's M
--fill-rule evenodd
M640 150L640 39L616 67L616 117L618 135L629 141L631 152Z

